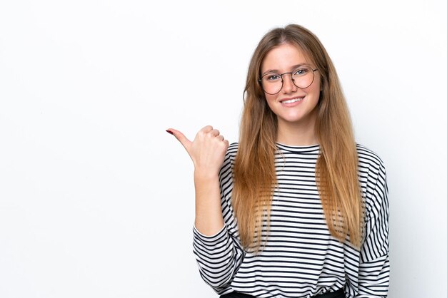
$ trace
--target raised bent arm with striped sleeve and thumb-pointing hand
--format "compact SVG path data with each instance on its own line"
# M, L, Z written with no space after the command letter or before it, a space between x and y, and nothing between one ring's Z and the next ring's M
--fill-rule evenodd
M179 130L170 129L194 163L196 219L194 254L204 281L223 294L243 258L231 202L232 169L228 141L211 126L202 128L193 142ZM224 210L224 214L223 214ZM225 223L224 223L225 217Z

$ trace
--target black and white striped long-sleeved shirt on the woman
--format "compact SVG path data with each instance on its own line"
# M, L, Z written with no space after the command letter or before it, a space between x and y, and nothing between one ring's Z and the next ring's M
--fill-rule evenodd
M218 294L313 297L344 288L346 298L386 297L389 283L388 188L382 160L357 144L358 179L365 204L360 250L328 231L315 180L319 145L276 144L278 187L270 232L257 255L243 250L231 206L237 143L228 147L219 179L224 228L202 235L194 227L194 254L204 281ZM264 237L266 235L263 235Z

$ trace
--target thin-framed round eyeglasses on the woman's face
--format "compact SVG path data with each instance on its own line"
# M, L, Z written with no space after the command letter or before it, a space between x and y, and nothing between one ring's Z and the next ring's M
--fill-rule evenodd
M283 76L285 74L290 74L293 85L296 87L303 89L311 86L313 83L313 79L315 78L314 72L318 71L318 68L312 69L308 66L301 66L296 68L294 71L290 73L266 73L258 79L261 84L262 90L270 95L274 95L279 93L283 88L284 79Z

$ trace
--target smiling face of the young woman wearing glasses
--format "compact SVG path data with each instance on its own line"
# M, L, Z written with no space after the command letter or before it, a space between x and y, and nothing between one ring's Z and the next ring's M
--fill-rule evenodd
M276 94L264 93L271 111L278 116L278 125L314 125L316 120L316 106L320 97L320 76L318 71L313 72L313 82L306 88L298 88L291 80L291 72L295 75L304 73L299 70L301 66L308 66L314 70L316 66L306 60L306 56L301 49L290 43L269 51L261 63L261 76L264 80L275 81L278 76L269 76L268 73L282 74L283 86ZM298 69L298 72L296 70ZM266 76L265 76L266 75ZM311 75L311 74L310 74ZM296 76L298 78L298 76ZM279 78L281 81L281 78ZM296 82L298 80L296 79ZM263 88L266 90L267 81L263 81ZM298 83L299 86L299 83ZM270 92L273 93L273 92Z

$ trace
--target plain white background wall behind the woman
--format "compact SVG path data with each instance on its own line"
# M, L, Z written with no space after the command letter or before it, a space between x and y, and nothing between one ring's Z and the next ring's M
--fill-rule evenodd
M216 297L192 253L191 160L231 142L248 61L311 29L386 164L389 297L446 297L443 1L1 1L0 297Z

